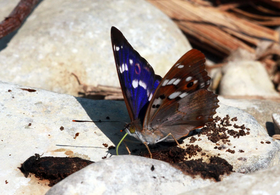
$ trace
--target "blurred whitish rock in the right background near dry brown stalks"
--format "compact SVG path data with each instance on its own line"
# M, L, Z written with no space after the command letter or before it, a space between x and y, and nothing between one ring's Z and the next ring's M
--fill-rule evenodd
M223 67L223 73L220 95L279 97L260 62L229 62Z

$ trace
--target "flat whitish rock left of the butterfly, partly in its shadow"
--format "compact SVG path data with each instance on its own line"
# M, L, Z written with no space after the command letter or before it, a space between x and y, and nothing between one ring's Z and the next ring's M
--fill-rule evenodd
M92 101L37 88L32 88L36 92L28 92L20 88L30 87L3 82L0 88L0 189L5 195L44 194L50 188L47 181L25 178L17 168L35 153L44 153L43 157L77 156L95 162L115 155L115 150L102 144L117 145L124 123L79 123L73 119L129 121L124 102ZM79 136L73 139L77 132ZM120 148L119 152L124 154L124 150Z

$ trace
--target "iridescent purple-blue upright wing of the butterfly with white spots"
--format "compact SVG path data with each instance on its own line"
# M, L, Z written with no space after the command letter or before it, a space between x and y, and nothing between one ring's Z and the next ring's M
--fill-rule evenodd
M114 26L111 28L111 41L130 120L139 118L143 121L149 102L162 78L154 73L151 65Z

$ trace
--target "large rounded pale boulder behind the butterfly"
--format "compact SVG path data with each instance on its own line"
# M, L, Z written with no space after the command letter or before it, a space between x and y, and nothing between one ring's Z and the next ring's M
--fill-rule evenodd
M7 17L17 3L2 0L0 17ZM147 1L48 0L9 42L0 41L0 78L76 96L80 88L71 73L88 85L119 86L111 26L119 28L162 77L191 49L178 26Z

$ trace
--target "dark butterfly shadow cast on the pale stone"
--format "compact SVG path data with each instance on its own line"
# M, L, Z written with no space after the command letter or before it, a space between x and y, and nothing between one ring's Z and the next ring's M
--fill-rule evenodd
M124 101L113 100L92 100L89 101L83 97L75 97L77 101L86 111L91 121L102 131L102 133L110 139L110 141L117 146L119 141L124 136L125 132L120 130L124 129L127 122L130 121L128 112ZM75 118L75 120L81 120ZM94 129L89 131L94 134ZM131 136L127 136L129 140L137 141ZM130 150L139 148L139 144L126 142ZM140 146L141 149L146 150L145 146ZM116 150L108 150L108 153L116 155ZM125 149L124 144L119 147L120 155L127 155L128 152Z

